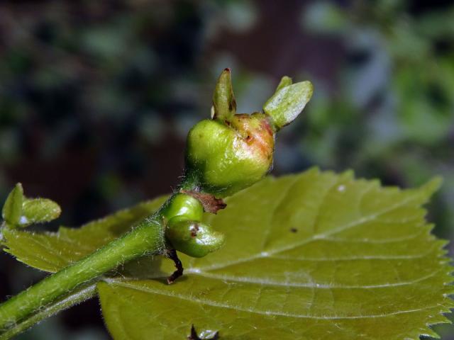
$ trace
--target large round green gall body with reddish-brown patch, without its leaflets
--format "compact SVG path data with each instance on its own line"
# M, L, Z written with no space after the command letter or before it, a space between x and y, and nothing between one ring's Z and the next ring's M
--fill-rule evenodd
M201 191L231 196L267 174L274 145L262 113L234 115L228 125L202 120L187 137L186 176Z

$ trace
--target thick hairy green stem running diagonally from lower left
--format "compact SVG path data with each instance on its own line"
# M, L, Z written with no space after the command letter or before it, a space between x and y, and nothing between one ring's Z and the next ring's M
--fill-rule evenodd
M165 249L164 227L159 212L139 225L61 271L48 276L0 305L0 333L26 317L47 307L62 295L126 261L145 254L160 254Z

